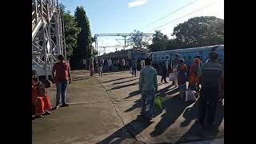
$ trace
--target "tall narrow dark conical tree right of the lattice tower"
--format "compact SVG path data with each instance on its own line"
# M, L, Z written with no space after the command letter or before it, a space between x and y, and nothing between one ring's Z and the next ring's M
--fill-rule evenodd
M86 62L92 57L92 37L90 33L90 22L86 16L86 11L83 6L78 6L75 10L75 20L78 22L78 27L81 32L78 34L78 44L75 50L74 60L77 68L83 68L82 59L87 59ZM87 63L88 65L89 63Z

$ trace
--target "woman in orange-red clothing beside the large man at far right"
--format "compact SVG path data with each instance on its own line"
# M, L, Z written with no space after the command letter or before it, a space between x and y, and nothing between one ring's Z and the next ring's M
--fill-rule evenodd
M190 76L189 76L189 89L196 90L198 86L198 70L200 65L200 60L198 58L194 58L194 63L190 66Z

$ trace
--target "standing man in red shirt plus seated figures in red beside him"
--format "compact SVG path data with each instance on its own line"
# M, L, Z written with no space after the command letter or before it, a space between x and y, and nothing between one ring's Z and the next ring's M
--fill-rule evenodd
M66 88L68 83L71 84L72 78L70 74L70 64L66 62L63 55L58 55L58 62L54 64L53 82L49 80L40 81L38 74L32 70L32 115L35 118L42 118L43 115L51 114L50 110L57 110L59 107L69 106L66 103ZM56 105L54 108L50 104L50 96L47 93L47 88L50 88L52 83L56 83ZM59 106L62 100L62 106Z

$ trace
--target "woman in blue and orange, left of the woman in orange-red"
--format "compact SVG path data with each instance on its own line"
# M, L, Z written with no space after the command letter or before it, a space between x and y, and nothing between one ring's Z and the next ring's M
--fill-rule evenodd
M184 63L184 59L181 58L179 60L179 64L177 66L178 71L178 91L180 98L183 100L185 99L186 94L186 64Z

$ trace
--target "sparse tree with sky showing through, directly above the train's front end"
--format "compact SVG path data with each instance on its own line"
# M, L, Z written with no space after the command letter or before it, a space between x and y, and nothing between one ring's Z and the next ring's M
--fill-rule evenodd
M149 45L148 36L139 35L139 34L143 34L143 32L134 30L132 34L133 35L130 36L130 39L128 40L128 43L130 46L146 47Z

